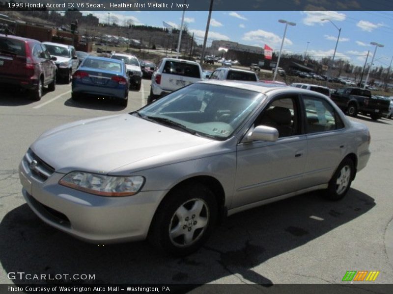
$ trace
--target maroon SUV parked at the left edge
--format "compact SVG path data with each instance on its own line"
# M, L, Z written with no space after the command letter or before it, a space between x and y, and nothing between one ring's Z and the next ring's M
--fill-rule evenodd
M0 83L30 91L40 100L42 88L56 88L56 57L37 40L0 34Z

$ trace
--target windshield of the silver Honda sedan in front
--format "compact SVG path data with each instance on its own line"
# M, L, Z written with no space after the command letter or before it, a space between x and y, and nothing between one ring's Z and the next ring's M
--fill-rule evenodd
M264 97L250 90L196 83L168 94L136 115L196 135L225 140Z

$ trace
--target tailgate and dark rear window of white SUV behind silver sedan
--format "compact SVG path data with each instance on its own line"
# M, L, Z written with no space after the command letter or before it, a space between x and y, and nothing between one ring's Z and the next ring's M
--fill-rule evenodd
M174 91L200 81L200 71L196 64L184 61L167 61L161 75L161 88Z

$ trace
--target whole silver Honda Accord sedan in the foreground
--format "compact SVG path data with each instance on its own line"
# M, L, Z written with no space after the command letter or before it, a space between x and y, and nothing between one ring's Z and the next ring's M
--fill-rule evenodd
M202 81L45 132L19 175L30 208L61 231L185 255L226 215L314 190L344 197L369 143L367 127L322 94Z

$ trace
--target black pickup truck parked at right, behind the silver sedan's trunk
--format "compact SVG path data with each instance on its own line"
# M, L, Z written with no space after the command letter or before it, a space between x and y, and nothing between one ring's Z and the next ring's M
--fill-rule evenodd
M370 90L345 87L331 94L332 100L348 115L356 117L358 112L369 114L376 121L389 113L388 99L372 98Z

